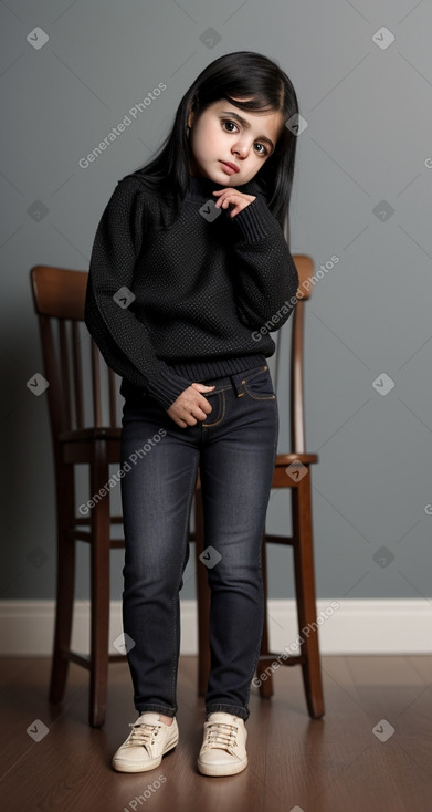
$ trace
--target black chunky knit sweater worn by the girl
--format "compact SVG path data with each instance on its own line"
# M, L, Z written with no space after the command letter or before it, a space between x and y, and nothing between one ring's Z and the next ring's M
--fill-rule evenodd
M255 180L235 187L256 199L233 218L232 206L214 208L212 191L223 188L190 176L168 229L173 198L150 190L139 169L108 200L84 319L125 397L150 394L167 409L191 383L259 366L275 351L270 330L293 311L297 270Z

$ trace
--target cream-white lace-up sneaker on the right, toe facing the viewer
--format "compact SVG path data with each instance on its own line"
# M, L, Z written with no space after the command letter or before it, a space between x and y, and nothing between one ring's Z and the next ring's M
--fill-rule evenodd
M247 731L244 719L217 711L204 722L204 737L198 756L203 775L234 775L247 767Z

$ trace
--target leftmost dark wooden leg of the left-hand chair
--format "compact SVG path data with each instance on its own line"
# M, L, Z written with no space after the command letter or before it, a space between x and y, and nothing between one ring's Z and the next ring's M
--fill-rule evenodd
M56 601L53 656L51 662L50 702L63 699L70 660L75 586L75 541L67 535L74 517L74 472L70 465L57 464L56 475Z

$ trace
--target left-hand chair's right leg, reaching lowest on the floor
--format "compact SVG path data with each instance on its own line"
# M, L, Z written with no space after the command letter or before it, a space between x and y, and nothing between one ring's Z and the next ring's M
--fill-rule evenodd
M91 490L97 493L106 482L108 465L104 441L95 443L95 459L91 466ZM105 721L109 657L109 495L97 502L92 513L91 544L91 685L88 721L102 727Z

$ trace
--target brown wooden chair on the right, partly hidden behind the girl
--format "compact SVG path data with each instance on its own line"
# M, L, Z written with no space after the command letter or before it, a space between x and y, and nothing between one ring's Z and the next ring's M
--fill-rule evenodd
M293 535L274 535L264 530L262 545L262 572L264 585L265 606L267 605L267 574L266 574L266 544L287 544L294 552L294 574L297 604L298 631L302 639L298 655L284 655L277 662L282 665L301 665L306 702L309 716L319 718L324 716L324 699L320 675L320 659L318 647L318 627L316 623L316 598L315 575L313 555L313 528L312 528L312 487L310 468L313 462L318 461L316 454L305 451L305 418L303 397L303 333L304 333L304 308L305 301L310 294L308 279L313 273L313 261L304 254L293 256L296 264L299 287L293 320L292 347L291 347L291 448L289 454L276 456L275 470L272 488L289 488L293 518ZM287 471L287 467L292 466ZM304 471L304 466L307 470ZM189 532L191 541L196 542L196 581L198 598L198 694L204 696L210 673L210 645L209 645L209 610L210 589L207 579L207 568L200 560L200 554L206 546L203 534L203 513L201 500L201 483L198 478L194 498L194 530ZM307 634L301 631L307 627ZM256 668L256 677L265 670L266 664L280 657L268 649L268 625L267 615L264 616L264 628L261 643L261 654ZM273 678L270 669L268 678L260 680L260 695L270 697L273 695Z

